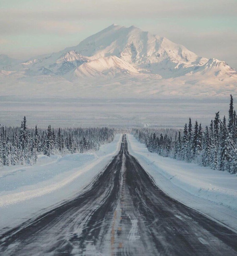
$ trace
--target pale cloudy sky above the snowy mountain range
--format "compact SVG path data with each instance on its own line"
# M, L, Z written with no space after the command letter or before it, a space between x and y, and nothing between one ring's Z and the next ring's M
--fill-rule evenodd
M0 0L0 54L21 60L135 25L237 70L237 0Z

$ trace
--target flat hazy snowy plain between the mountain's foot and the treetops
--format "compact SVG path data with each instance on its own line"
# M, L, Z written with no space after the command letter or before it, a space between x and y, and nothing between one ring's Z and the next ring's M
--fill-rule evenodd
M235 100L235 95L234 100ZM236 97L237 99L237 97ZM163 127L183 128L189 117L209 125L215 113L227 116L229 95L224 99L80 99L63 97L0 96L4 126L52 127Z

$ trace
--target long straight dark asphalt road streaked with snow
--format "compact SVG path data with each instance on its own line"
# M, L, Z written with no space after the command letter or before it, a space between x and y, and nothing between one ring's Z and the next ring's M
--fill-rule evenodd
M84 192L0 237L0 255L237 255L237 234L160 190L120 152Z

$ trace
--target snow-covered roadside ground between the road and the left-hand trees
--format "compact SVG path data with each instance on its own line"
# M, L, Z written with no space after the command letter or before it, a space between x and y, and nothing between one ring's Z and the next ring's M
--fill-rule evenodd
M0 169L0 230L55 207L80 192L119 151L121 135L98 152L40 156L34 166ZM46 209L47 208L47 209Z

